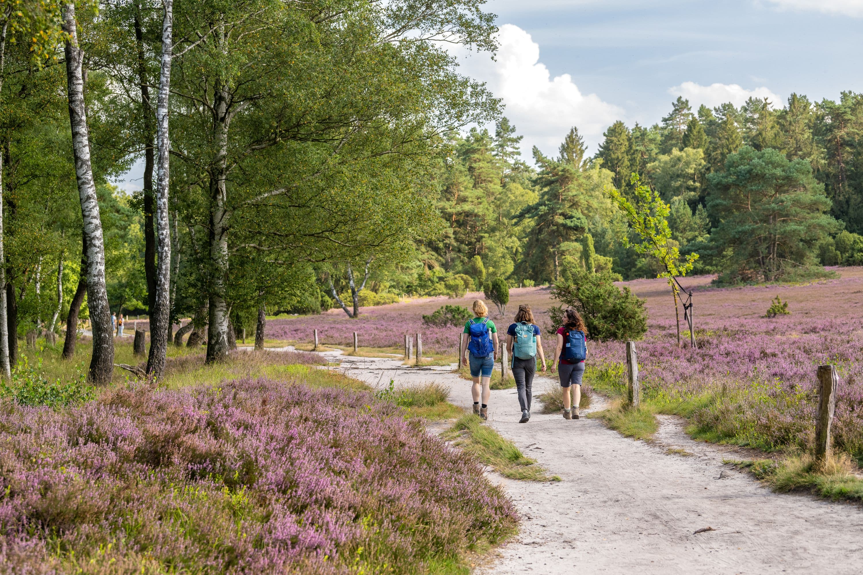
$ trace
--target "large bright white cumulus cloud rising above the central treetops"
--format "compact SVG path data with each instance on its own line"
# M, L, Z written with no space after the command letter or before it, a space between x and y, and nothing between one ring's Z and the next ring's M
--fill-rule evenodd
M496 61L487 54L458 53L462 72L482 80L495 97L506 104L504 115L524 135L522 154L531 161L531 148L557 155L557 147L576 126L589 153L595 153L605 128L621 119L623 110L603 102L595 94L583 94L569 74L551 78L539 61L539 44L513 24L504 24L498 35Z

